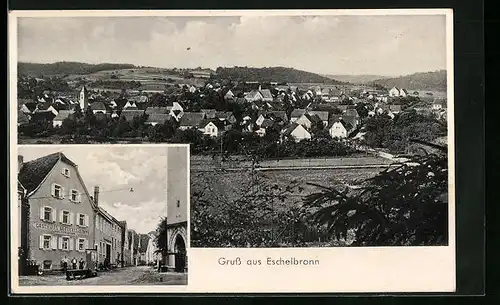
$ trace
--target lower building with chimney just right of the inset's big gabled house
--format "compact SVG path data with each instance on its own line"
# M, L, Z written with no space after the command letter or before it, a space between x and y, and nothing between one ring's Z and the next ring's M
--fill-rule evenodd
M123 260L121 223L99 206L99 187L94 187L95 213L95 248L97 262L121 266Z

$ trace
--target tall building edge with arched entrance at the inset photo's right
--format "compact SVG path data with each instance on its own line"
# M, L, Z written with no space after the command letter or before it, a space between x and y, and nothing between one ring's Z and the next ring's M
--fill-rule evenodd
M167 156L167 268L187 271L187 154L182 147L172 147Z

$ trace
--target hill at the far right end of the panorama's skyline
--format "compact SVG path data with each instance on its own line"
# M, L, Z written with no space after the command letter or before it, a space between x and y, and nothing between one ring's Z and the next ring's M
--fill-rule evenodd
M378 79L374 80L372 84L381 85L388 89L396 86L408 90L446 91L446 70L414 73L395 78Z

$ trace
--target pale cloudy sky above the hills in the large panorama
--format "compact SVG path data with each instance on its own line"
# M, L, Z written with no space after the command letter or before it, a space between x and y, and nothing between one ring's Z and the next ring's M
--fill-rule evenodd
M284 66L320 74L385 76L446 68L445 15L18 20L18 60L24 62Z

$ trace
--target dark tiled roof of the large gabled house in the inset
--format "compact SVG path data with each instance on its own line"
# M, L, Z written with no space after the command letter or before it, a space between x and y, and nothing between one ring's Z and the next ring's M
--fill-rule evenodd
M62 152L56 152L23 163L21 171L18 174L18 180L24 186L28 194L34 191L40 183L42 183L43 179L45 179L59 160L76 167L76 164L68 159Z

